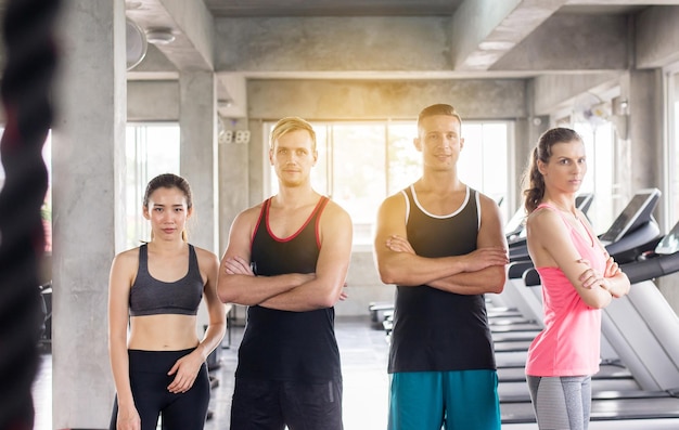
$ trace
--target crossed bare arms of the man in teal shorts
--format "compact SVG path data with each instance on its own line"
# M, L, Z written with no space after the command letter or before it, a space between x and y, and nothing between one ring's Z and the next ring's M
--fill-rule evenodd
M486 227L485 223L482 219L482 229ZM502 277L500 285L503 285L507 251L501 240L490 240L491 222L487 221L487 231L479 234L478 244L482 247L474 252L441 258L420 257L412 251L410 244L407 245L410 251L405 250L401 242L407 243L405 197L400 194L388 197L377 212L374 240L374 255L382 282L403 286L426 284L454 292L465 291L462 294L483 292L488 289L488 285L497 282L499 275ZM452 278L453 275L457 277ZM477 284L476 276L485 279ZM485 287L481 286L482 283ZM475 288L478 288L478 292L472 292Z

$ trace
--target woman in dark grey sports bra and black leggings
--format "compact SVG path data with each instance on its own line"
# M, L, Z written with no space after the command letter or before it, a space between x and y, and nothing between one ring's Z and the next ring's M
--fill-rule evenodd
M143 214L151 242L113 260L108 285L108 350L116 387L112 430L202 429L209 401L205 361L225 335L217 298L217 256L187 242L191 188L176 174L149 182ZM197 337L204 299L209 324ZM129 323L129 330L128 330Z

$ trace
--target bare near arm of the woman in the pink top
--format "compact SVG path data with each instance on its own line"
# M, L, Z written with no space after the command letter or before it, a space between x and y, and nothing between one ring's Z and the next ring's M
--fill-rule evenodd
M528 217L526 229L528 252L536 266L559 266L582 301L592 308L601 309L611 303L612 295L603 276L593 273L589 263L581 259L558 213L537 210ZM618 276L614 275L616 279Z

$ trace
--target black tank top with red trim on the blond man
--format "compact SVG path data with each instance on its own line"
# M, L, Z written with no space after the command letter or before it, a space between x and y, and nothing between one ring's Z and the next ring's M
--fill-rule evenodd
M318 225L328 204L322 197L307 222L290 237L269 231L267 199L253 234L251 264L258 276L315 273L319 255ZM253 305L239 349L238 377L324 382L341 378L334 308L289 312Z

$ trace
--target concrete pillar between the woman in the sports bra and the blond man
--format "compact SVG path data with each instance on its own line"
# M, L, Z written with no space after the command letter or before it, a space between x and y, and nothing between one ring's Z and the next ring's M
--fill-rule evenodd
M217 81L212 71L179 76L179 169L193 192L189 242L217 252Z

